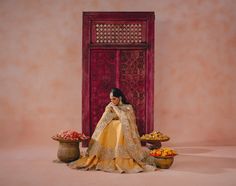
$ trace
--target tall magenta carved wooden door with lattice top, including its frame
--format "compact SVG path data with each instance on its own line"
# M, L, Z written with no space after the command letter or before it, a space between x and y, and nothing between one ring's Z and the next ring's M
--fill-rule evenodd
M83 132L92 135L118 87L133 105L141 134L153 130L153 12L84 12Z

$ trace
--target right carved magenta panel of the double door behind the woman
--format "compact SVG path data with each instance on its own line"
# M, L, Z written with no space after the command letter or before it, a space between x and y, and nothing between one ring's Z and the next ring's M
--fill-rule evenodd
M119 80L120 88L133 105L140 134L146 132L145 73L146 50L121 50Z

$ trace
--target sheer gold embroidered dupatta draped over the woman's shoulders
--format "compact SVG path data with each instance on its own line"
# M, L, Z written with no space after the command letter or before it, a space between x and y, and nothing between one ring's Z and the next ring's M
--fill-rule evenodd
M109 104L97 124L97 127L92 135L92 143L99 138L99 135L103 132L104 128L114 119L119 118L121 122L121 129L124 133L125 150L128 154L139 164L142 163L145 154L142 150L139 140L139 134L136 126L136 119L133 107L131 105L114 106ZM99 148L90 145L88 149L89 155L98 155ZM124 152L125 153L125 152ZM112 157L113 158L113 157Z

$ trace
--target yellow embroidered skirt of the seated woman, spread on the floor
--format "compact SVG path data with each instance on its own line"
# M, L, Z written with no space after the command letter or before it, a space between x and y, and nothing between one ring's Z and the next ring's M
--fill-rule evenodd
M120 120L112 120L96 140L91 139L88 155L70 163L69 166L84 170L120 173L155 170L145 163L136 162L126 150L126 144Z

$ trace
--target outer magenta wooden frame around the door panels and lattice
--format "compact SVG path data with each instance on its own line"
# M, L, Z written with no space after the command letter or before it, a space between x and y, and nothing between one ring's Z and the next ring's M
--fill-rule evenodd
M110 15L110 16L108 16ZM115 16L116 18L112 18ZM90 48L96 48L91 44L91 22L94 20L142 20L147 23L147 66L146 66L146 133L154 128L154 12L83 12L83 39L82 39L82 131L91 135L90 119ZM87 25L87 26L84 26ZM140 45L140 44L139 44ZM112 45L109 45L112 47ZM117 48L117 46L115 46ZM106 48L106 47L105 47ZM129 45L120 46L130 48Z

